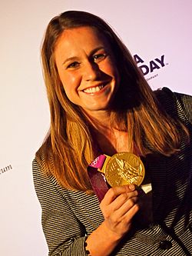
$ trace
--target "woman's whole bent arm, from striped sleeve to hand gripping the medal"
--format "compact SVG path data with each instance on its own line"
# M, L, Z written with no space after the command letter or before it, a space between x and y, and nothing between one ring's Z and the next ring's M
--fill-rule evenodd
M42 208L42 227L48 243L49 255L84 256L84 226L78 221L61 196L54 180L41 173L33 162L35 191ZM55 181L56 182L56 181ZM110 189L101 202L104 222L87 239L91 256L108 256L131 228L131 220L138 210L137 191L127 186Z

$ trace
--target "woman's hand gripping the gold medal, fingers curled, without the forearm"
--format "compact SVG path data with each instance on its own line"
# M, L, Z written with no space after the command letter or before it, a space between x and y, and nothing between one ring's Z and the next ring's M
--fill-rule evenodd
M134 185L110 188L100 204L108 232L121 239L131 229L131 222L139 210L138 191Z

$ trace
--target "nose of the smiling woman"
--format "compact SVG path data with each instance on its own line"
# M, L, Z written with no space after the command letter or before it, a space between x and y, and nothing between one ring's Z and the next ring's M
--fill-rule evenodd
M101 71L98 65L94 62L87 62L84 65L84 80L85 81L94 81L97 80L101 75Z

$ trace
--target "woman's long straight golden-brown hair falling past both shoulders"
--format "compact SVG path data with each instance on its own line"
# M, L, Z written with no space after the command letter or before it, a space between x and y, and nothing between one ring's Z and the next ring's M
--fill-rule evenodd
M91 191L91 185L87 166L97 156L94 147L97 142L93 139L91 125L81 108L65 95L54 55L55 44L65 29L81 26L98 29L114 52L121 86L114 97L111 125L120 125L121 130L128 131L130 151L137 145L142 155L151 151L171 155L180 145L178 125L184 131L186 129L167 117L130 52L104 20L88 12L78 11L56 16L48 24L41 49L51 128L36 158L43 171L54 175L64 188L88 192ZM147 148L143 138L150 142L153 149Z

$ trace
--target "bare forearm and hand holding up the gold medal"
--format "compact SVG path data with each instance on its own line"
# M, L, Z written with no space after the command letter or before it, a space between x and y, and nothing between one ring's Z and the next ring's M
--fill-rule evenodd
M138 191L134 185L111 188L101 201L104 222L88 236L91 256L108 256L131 230L131 222L139 210Z

